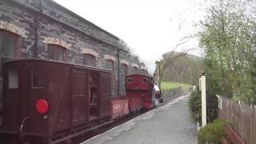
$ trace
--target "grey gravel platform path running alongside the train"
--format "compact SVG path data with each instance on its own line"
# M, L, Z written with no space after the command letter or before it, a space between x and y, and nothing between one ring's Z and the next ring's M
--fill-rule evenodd
M187 102L182 96L82 144L197 144Z

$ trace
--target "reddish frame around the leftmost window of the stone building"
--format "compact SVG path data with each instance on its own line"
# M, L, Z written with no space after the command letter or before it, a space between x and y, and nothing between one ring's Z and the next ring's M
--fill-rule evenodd
M21 58L21 47L22 47L22 41L21 41L21 36L18 34L14 34L13 32L10 32L8 30L0 30L0 35L2 34L6 34L12 38L16 38L16 47L15 47L15 56L14 57L7 57L7 56L2 56L0 55L2 58Z

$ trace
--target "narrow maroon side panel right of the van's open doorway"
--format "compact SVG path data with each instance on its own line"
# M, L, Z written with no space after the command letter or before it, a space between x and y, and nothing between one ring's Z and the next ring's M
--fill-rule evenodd
M106 118L110 116L111 74L101 72L100 75L100 118Z

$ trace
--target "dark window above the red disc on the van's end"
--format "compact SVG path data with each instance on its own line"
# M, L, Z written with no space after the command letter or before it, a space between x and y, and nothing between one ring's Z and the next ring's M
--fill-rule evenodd
M43 88L44 77L43 70L40 68L32 70L32 88Z

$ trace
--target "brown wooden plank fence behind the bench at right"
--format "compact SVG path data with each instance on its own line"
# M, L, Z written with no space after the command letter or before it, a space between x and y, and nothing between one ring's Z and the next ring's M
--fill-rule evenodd
M231 122L246 144L256 143L256 107L218 96L218 118Z

